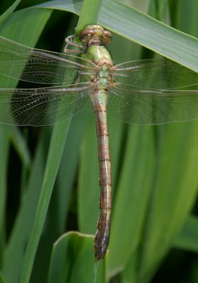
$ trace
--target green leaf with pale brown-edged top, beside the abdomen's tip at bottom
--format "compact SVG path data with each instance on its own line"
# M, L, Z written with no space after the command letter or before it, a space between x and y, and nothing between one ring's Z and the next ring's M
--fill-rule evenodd
M54 243L48 282L107 282L105 260L99 262L99 268L96 265L93 237L77 232L66 233Z

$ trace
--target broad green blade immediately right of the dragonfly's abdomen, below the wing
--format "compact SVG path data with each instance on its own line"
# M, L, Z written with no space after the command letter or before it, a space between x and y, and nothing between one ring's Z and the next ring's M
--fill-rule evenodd
M122 270L139 245L154 169L153 127L132 127L113 203L108 270Z

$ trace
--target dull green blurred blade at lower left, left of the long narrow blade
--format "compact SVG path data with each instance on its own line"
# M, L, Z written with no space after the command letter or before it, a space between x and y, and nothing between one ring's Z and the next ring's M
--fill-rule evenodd
M26 187L26 195L23 197L23 202L16 216L16 221L4 253L3 274L7 283L18 282L21 272L24 246L30 236L37 201L40 195L40 187L42 186L45 166L43 151L46 149L46 136L46 131L42 132L39 143L37 144L35 158L31 166L30 178L28 179L28 185ZM10 270L13 272L10 272Z

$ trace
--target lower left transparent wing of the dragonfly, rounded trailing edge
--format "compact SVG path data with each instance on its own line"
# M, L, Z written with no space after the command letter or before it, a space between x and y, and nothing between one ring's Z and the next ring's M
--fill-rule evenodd
M51 88L0 88L0 122L10 125L52 125L76 115L91 86L78 83Z

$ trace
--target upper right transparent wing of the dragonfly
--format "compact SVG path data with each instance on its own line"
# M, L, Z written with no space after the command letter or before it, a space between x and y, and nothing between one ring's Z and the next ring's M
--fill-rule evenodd
M175 89L198 83L198 74L169 59L148 59L117 64L115 81L144 88Z

